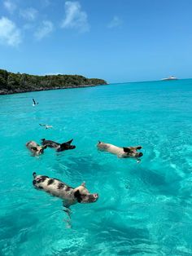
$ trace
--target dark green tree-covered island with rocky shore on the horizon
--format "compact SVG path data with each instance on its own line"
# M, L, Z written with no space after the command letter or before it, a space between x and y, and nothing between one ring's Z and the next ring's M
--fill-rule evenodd
M56 90L98 85L107 85L107 82L103 79L86 78L79 75L35 76L27 73L11 73L0 69L0 95L34 90Z

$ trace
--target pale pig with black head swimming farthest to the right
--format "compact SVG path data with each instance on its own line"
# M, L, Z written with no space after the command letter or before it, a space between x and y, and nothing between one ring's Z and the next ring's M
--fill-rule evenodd
M141 146L120 148L109 143L98 141L97 147L99 150L111 152L112 154L115 154L117 157L122 157L122 158L131 157L131 158L136 158L137 161L139 161L139 157L142 157L143 155L142 152L137 152L137 149L142 148Z

